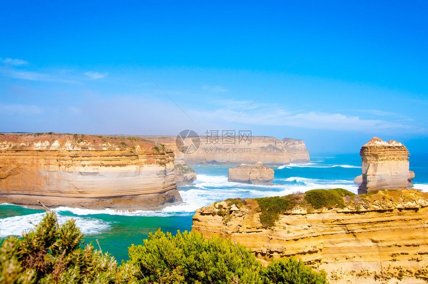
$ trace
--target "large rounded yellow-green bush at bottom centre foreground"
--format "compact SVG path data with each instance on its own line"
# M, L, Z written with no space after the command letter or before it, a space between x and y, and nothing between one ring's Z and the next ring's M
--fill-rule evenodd
M128 248L143 283L258 283L260 262L241 245L200 233L171 233L158 230L144 240L144 246Z

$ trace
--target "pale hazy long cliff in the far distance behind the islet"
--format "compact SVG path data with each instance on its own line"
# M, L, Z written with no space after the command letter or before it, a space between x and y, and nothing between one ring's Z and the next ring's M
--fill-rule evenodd
M250 141L228 137L201 137L201 145L194 153L185 154L189 165L240 165L261 162L266 165L308 163L309 153L303 140L253 136Z

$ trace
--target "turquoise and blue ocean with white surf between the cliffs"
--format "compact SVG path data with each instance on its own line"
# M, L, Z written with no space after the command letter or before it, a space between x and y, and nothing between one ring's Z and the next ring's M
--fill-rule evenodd
M410 170L416 174L415 189L428 191L428 155L412 155ZM361 174L361 158L352 155L311 156L306 164L271 167L275 171L274 185L247 185L229 183L227 171L231 166L195 166L198 180L192 186L179 187L184 203L168 206L160 211L114 211L59 207L54 209L58 221L74 218L86 243L98 247L116 258L128 260L127 247L142 244L150 232L161 228L164 232L190 231L195 210L227 198L282 196L310 189L343 188L357 193L353 179ZM0 239L9 235L21 236L39 222L44 210L28 209L11 204L0 204Z

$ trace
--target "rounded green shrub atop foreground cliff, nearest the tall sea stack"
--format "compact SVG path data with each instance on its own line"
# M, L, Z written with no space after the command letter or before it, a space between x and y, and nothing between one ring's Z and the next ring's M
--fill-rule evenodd
M345 206L342 195L338 193L337 190L332 189L313 189L306 191L305 200L316 209L322 207L343 208Z

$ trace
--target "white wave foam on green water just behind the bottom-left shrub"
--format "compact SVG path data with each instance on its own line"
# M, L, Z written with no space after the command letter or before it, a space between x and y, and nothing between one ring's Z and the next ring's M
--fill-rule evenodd
M22 232L34 228L46 213L35 213L29 215L12 216L0 219L0 238L10 235L22 236ZM57 214L58 223L63 224L69 219L75 219L76 225L80 228L81 232L85 235L99 234L111 228L109 222L95 219L95 218L82 218L72 216L61 216ZM34 224L31 224L30 221Z

